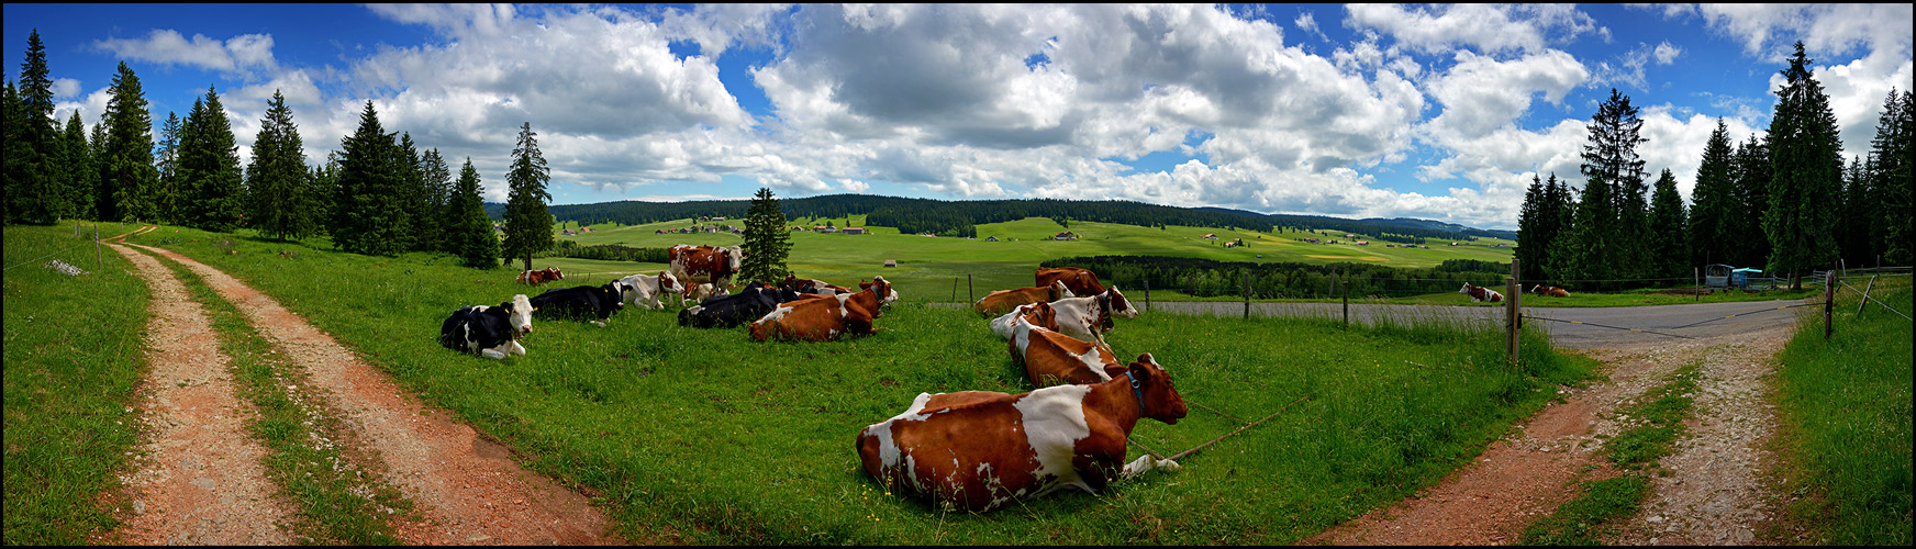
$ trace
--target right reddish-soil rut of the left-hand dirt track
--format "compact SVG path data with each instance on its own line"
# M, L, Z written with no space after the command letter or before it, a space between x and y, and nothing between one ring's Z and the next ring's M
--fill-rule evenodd
M270 296L182 254L148 251L194 270L331 394L331 407L343 411L354 440L379 455L389 480L423 516L395 524L406 543L625 543L607 534L611 522L584 495L521 469L506 446L481 438L448 411L420 404L383 371Z

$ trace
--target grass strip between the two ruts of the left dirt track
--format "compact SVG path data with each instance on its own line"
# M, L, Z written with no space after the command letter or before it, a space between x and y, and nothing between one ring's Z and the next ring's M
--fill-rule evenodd
M289 530L303 543L399 545L387 518L412 509L410 501L360 465L366 455L349 455L354 446L341 444L351 438L339 413L326 409L324 394L314 392L305 371L282 362L278 348L199 275L159 260L203 304L238 396L259 409L247 428L266 448L266 474L280 497L295 503Z

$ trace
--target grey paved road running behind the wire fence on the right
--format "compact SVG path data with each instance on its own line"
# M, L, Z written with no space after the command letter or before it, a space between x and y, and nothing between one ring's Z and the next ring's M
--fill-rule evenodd
M1140 310L1144 302L1132 300ZM1550 340L1560 348L1592 348L1627 342L1675 340L1678 337L1709 339L1728 333L1755 331L1795 321L1799 306L1814 300L1755 300L1713 304L1659 304L1609 308L1523 308L1525 316L1542 318ZM1242 316L1243 302L1153 302L1152 312ZM1820 310L1814 310L1820 314ZM1251 316L1330 318L1343 319L1343 304L1328 302L1253 302ZM1414 304L1351 304L1351 321L1370 323L1376 316L1397 319L1464 319L1502 323L1502 306L1414 306ZM1537 319L1525 319L1537 321ZM1638 331L1629 331L1638 329Z

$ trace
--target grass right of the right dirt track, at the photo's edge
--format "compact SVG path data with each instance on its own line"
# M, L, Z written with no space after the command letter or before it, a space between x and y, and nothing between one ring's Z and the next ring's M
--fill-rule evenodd
M1866 279L1849 279L1862 289ZM1880 277L1870 296L1910 314L1910 279ZM1860 295L1837 293L1836 333L1805 308L1780 354L1786 520L1809 528L1807 543L1910 543L1910 321L1878 304L1857 314Z

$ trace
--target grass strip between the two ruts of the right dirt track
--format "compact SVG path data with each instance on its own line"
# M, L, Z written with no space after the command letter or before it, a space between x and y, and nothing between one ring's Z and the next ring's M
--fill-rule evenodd
M1671 373L1665 384L1619 411L1621 417L1629 417L1631 427L1606 444L1606 455L1625 472L1581 482L1583 495L1525 526L1517 543L1602 545L1602 539L1615 536L1613 524L1636 515L1638 503L1650 495L1648 469L1655 469L1657 459L1669 455L1671 444L1682 436L1682 421L1690 417L1699 375L1699 363L1684 365Z

